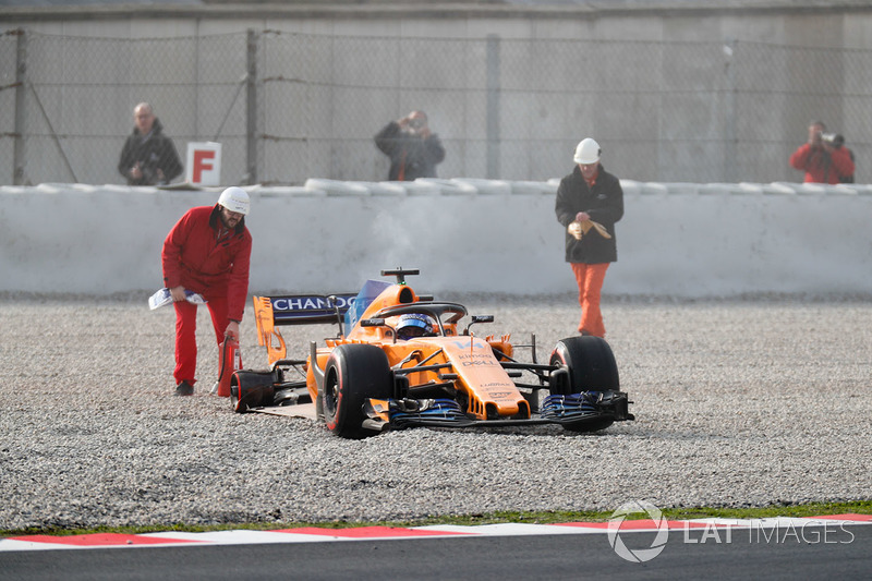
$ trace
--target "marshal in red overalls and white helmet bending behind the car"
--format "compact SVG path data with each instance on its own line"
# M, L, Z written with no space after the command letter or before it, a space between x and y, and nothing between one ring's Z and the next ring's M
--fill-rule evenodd
M197 305L185 290L206 300L218 344L239 340L249 294L252 237L245 227L251 202L242 187L221 192L215 206L191 208L164 241L164 286L175 307L175 395L194 392L197 368Z

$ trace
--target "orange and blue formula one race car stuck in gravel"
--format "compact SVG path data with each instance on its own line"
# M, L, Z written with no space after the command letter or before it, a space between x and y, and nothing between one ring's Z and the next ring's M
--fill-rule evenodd
M396 283L370 280L356 295L255 296L258 342L268 371L237 371L237 412L314 403L335 434L362 438L412 426L471 427L554 423L572 432L633 420L608 343L597 337L557 342L547 364L508 335L480 337L471 327L493 316L419 295L405 283L417 270L383 270ZM336 339L286 359L278 326L334 323ZM532 349L532 363L514 359Z

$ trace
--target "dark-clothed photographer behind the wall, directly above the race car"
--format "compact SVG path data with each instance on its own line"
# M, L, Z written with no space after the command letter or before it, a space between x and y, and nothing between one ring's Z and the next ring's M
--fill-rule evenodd
M424 111L412 111L391 121L375 136L375 144L390 157L391 181L435 178L436 164L445 159L445 148L439 137L431 133Z

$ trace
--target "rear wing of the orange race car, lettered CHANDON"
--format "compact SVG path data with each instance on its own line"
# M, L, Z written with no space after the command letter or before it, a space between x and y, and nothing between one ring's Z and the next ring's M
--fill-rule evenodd
M342 335L344 314L354 304L355 296L356 293L255 296L257 344L266 347L269 363L272 364L284 359L288 352L284 338L276 328L278 326L337 324L339 335Z

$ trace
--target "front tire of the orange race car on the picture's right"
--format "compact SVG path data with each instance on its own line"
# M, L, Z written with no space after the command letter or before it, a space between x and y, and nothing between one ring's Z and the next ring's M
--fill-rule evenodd
M568 337L557 341L552 351L552 365L566 365L569 371L569 391L618 391L620 377L611 347L601 337ZM595 432L614 423L611 417L591 417L573 424L565 424L570 432Z

